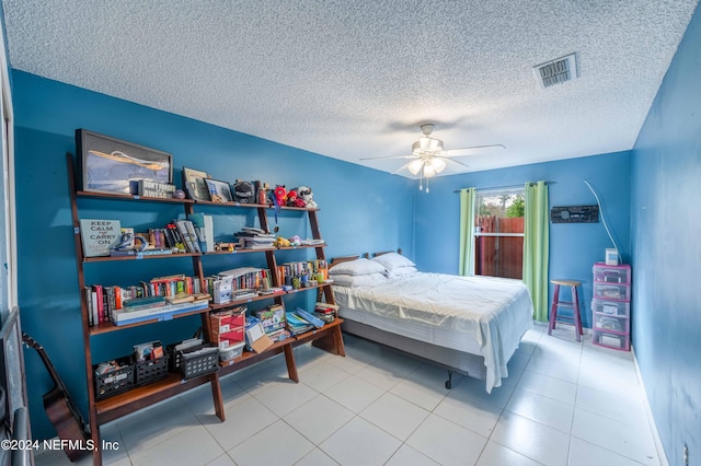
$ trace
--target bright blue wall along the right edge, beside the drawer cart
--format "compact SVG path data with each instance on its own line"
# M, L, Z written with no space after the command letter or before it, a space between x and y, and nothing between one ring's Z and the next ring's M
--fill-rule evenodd
M701 10L632 154L633 337L670 465L701 456Z

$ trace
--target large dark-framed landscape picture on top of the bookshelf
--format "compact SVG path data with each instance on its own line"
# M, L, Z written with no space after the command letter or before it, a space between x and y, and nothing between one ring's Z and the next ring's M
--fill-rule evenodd
M130 195L129 182L173 183L172 155L85 129L76 130L81 189Z

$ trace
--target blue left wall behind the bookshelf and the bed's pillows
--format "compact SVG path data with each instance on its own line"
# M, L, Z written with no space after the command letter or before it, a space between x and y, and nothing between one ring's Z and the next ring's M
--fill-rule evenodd
M47 350L69 392L87 412L77 266L71 226L66 152L74 153L74 130L87 128L173 154L177 184L182 166L233 182L262 179L288 187L309 185L319 203L320 229L329 243L326 257L402 247L411 251L413 184L400 176L320 156L248 135L175 116L74 86L13 71L15 116L19 302L24 329ZM250 214L207 208L217 217L215 234L223 240ZM131 211L131 213L125 213ZM81 200L82 218L117 218L123 224L157 226L183 213L182 208L134 202ZM271 222L274 220L271 215ZM310 236L300 215L286 214L280 234ZM311 258L290 252L278 261ZM313 254L313 253L311 253ZM263 258L239 255L205 261L205 272L249 265ZM262 255L261 255L262 256ZM241 257L241 258L239 258ZM258 265L258 264L250 264ZM191 272L187 258L141 260L128 265L90 264L88 283L133 284L154 276ZM313 293L307 293L312 301ZM264 305L263 303L262 305ZM93 362L130 352L138 341L174 341L192 335L199 319L184 318L93 338ZM38 357L26 352L33 434L55 435L42 407L53 384Z

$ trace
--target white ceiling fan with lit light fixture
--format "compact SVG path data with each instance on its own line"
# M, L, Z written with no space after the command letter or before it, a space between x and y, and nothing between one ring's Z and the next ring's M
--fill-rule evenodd
M410 155L379 156L360 160L412 159L410 162L400 166L393 173L398 173L404 168L407 168L412 175L420 175L421 180L418 188L423 189L423 178L430 178L433 176L436 176L436 174L443 172L447 166L446 161L457 163L467 167L468 165L453 159L456 156L471 155L471 153L461 152L492 148L506 149L503 144L490 144L445 150L443 148L443 141L440 139L430 137L435 127L436 126L430 123L421 125L421 131L424 136L418 138L418 140L412 144L412 153ZM428 193L428 180L426 180L426 193Z

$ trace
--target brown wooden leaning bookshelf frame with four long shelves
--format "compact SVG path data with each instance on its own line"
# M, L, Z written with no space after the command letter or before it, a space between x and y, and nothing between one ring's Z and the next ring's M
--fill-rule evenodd
M209 257L221 257L226 255L238 255L238 254L263 254L265 256L265 260L267 263L267 268L271 271L277 270L277 260L276 254L279 251L289 252L295 249L312 249L315 254L317 260L324 260L324 247L323 244L314 244L314 245L299 245L299 246L290 246L290 247L281 247L281 248L261 248L261 249L234 249L234 251L216 251L216 252L207 252L207 253L180 253L180 254L156 254L156 255L135 255L135 256L120 256L120 257L84 257L82 251L82 242L80 236L80 217L79 217L79 200L80 199L93 199L105 202L119 202L117 209L114 209L115 205L110 206L113 210L128 210L129 202L138 202L138 203L149 203L153 205L153 208L158 210L159 208L172 208L173 205L182 206L184 209L184 213L189 215L195 212L195 209L198 210L207 210L209 208L217 209L254 209L257 213L257 220L260 222L261 229L264 231L269 231L268 228L268 219L267 211L272 209L271 206L267 205L257 205L257 203L239 203L239 202L211 202L211 201L194 201L192 199L161 199L161 198L146 198L139 196L125 196L118 194L105 194L105 193L88 193L77 189L76 185L76 171L74 171L74 161L73 156L69 153L67 154L67 164L68 164L68 185L69 185L69 194L70 194L70 203L71 203L71 214L73 222L73 236L74 236L74 247L76 247L76 261L78 266L78 290L80 293L81 301L81 321L82 321L82 337L83 337L83 347L84 347L84 361L85 361L85 378L88 385L88 406L89 406L89 423L90 423L90 432L93 442L95 445L101 445L100 439L100 427L106 422L114 421L119 419L123 416L126 416L136 410L146 408L161 400L168 399L172 396L181 394L183 392L189 391L194 387L209 384L212 394L212 404L215 407L215 412L221 421L225 421L225 412L223 412L223 400L221 398L221 387L219 383L219 378L222 375L230 374L249 365L261 362L265 359L277 354L284 354L285 361L287 364L288 376L290 380L298 382L299 376L297 373L297 366L295 362L294 348L312 342L313 345L323 348L327 351L333 352L334 354L345 356L345 349L343 346L343 338L341 334L341 323L342 319L336 318L331 324L324 325L322 328L310 330L306 334L290 337L286 340L278 341L267 348L262 353L253 353L253 352L244 352L240 358L234 359L232 362L223 363L220 365L217 372L202 375L192 380L183 380L180 374L169 374L165 378L160 381L150 383L148 385L138 386L131 388L125 393L114 395L112 397L105 399L96 399L95 396L95 381L94 381L94 372L93 364L99 361L92 360L92 350L91 346L93 345L93 339L99 339L101 336L106 334L112 334L115 331L120 331L124 329L129 329L134 327L148 326L148 325L157 325L161 322L160 318L154 317L152 319L116 326L110 322L101 323L99 325L90 325L89 318L89 305L85 302L85 277L90 276L91 271L85 270L87 264L92 263L113 263L114 267L119 267L120 264L130 260L164 260L164 265L174 264L169 263L169 259L173 258L189 258L193 265L193 277L199 279L199 282L204 286L205 283L205 273L203 268L203 260L208 260ZM94 203L94 202L93 202ZM91 205L91 208L94 208ZM283 207L283 210L289 210L294 212L299 212L300 214L308 215L311 234L314 240L321 241L321 233L319 231L319 223L317 219L318 208L314 209L306 209L306 208L292 208L292 207ZM94 266L97 267L97 266ZM105 267L105 266L100 266ZM112 266L110 266L112 267ZM278 273L273 272L271 275L273 277L273 284L276 288L280 288L283 283L279 283ZM318 283L312 287L304 287L298 290L290 290L285 292L277 292L274 294L258 295L253 298L248 298L243 300L235 300L226 304L210 304L208 308L197 310L193 312L184 312L182 314L173 315L172 318L180 318L192 315L199 315L202 319L202 328L204 333L205 340L211 341L211 330L209 326L209 313L216 312L219 310L226 310L228 307L245 305L252 302L271 300L277 304L284 305L284 300L286 296L294 295L300 292L320 292L325 298L325 301L330 304L335 304L333 299L332 283ZM321 290L321 291L320 291ZM102 464L102 452L100 448L95 448L93 452L93 464L101 465Z

